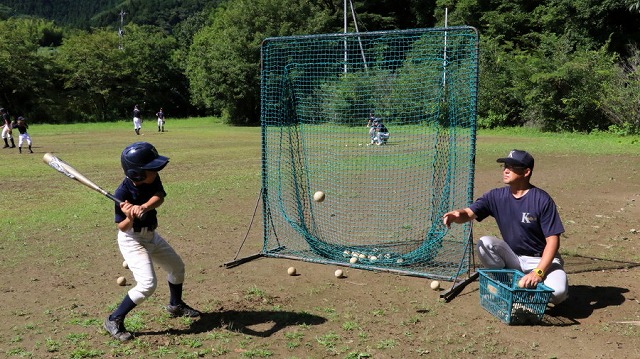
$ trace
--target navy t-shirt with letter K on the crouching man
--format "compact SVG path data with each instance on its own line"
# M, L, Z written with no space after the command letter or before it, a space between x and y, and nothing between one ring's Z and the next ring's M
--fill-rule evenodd
M478 222L494 217L502 239L517 255L541 256L546 238L564 233L555 202L535 186L520 198L515 198L508 186L495 188L469 208Z

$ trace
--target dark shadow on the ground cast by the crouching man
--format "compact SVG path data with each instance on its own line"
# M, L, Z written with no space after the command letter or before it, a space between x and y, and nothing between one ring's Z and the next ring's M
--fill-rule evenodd
M543 324L570 326L580 324L579 319L588 318L595 310L624 303L622 295L629 290L619 287L569 286L569 298L545 312Z

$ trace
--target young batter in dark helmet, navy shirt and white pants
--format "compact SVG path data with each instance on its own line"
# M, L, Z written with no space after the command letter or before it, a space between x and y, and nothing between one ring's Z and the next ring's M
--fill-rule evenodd
M150 143L136 142L122 151L120 160L126 178L114 192L123 201L115 207L118 247L136 285L107 317L104 328L114 338L125 341L133 337L124 326L125 316L151 296L157 287L155 264L167 272L170 298L166 309L171 316L199 317L200 312L182 301L184 262L156 232L156 208L166 196L158 171L169 163L169 158L160 156Z

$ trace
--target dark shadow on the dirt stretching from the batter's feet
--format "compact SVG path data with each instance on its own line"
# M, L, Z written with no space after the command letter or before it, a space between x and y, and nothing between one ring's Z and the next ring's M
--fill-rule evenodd
M195 320L187 329L138 332L135 334L137 336L199 334L209 332L213 329L225 328L246 335L266 338L288 326L320 325L326 321L323 317L307 313L232 310L202 313L202 316Z

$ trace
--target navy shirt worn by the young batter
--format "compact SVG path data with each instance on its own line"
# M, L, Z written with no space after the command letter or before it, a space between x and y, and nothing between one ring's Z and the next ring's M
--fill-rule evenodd
M164 191L164 187L162 186L162 181L160 180L160 175L156 176L156 179L151 184L141 184L139 186L135 186L133 182L129 178L125 178L120 186L114 192L114 196L119 198L122 201L129 201L131 204L142 205L147 203L151 197L154 195L159 195L160 197L165 197L167 193ZM158 217L157 211L152 209L148 212L145 212L144 220L140 218L135 218L133 220L134 227L157 227L158 226ZM120 205L116 203L115 206L115 222L122 222L127 216L120 209Z

